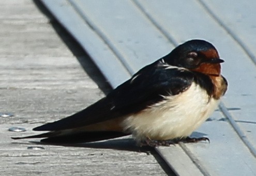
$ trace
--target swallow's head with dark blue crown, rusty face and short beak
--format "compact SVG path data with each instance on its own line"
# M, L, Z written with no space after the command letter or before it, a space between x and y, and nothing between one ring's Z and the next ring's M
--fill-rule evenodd
M177 46L164 61L172 66L183 67L207 75L219 76L219 54L211 43L204 40L190 40Z

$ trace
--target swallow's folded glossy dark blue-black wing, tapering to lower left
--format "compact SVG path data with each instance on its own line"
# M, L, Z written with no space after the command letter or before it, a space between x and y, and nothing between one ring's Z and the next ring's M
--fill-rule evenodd
M86 126L137 113L163 99L176 95L192 84L194 74L154 62L112 90L107 97L67 118L36 127L35 131L58 131Z

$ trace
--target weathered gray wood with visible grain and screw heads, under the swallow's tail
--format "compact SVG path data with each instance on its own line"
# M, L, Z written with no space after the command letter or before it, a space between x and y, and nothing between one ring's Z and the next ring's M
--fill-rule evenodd
M104 96L98 86L108 87L100 85L102 75L76 42L32 1L0 1L0 36L0 112L14 115L0 117L0 175L166 174L132 139L73 147L11 140L81 110ZM27 132L9 132L11 126ZM31 146L44 150L28 150Z

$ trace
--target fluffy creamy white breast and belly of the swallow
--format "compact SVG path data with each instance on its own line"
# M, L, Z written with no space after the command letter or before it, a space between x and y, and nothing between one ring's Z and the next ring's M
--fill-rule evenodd
M213 113L218 102L209 99L206 91L193 83L185 92L167 96L165 101L128 117L122 125L137 140L183 138Z

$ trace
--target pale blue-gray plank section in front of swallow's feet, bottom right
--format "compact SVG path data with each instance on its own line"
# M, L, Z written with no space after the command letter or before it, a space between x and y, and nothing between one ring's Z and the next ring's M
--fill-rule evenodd
M211 119L197 130L207 134L210 143L189 144L186 149L202 163L210 175L254 175L255 157L233 131L228 120L223 119L224 116L215 111Z

